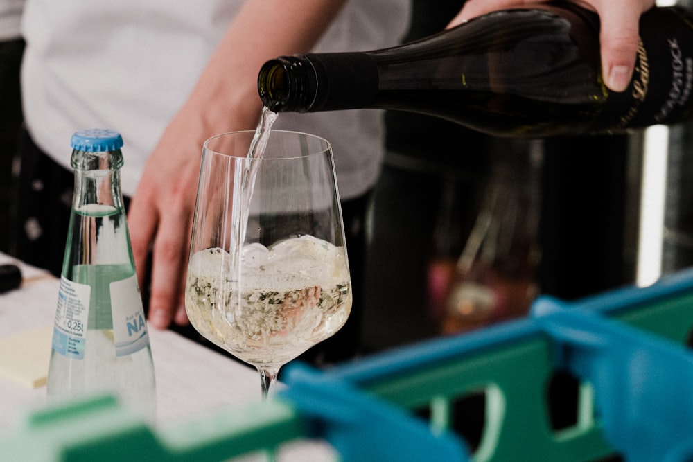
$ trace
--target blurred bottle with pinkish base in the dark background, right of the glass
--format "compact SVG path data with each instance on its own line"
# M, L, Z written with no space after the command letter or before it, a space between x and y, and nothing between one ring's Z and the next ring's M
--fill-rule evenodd
M450 280L441 332L527 314L541 260L541 141L494 140L480 212Z

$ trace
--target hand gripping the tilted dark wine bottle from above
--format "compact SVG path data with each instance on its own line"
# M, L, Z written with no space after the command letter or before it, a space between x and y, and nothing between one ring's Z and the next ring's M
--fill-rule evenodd
M538 1L548 0L468 0L450 26L494 10ZM576 0L574 3L599 13L604 82L613 91L624 91L635 66L640 15L652 8L655 0Z

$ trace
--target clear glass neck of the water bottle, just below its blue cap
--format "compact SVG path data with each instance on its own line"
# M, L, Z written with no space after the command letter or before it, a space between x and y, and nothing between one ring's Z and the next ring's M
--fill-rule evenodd
M71 165L75 169L75 192L72 206L80 210L85 206L123 208L120 168L123 155L120 150L85 152L74 150Z

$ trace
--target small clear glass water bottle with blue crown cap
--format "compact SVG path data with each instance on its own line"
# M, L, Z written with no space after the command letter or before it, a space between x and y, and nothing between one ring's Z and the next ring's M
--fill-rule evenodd
M72 136L75 193L47 394L110 393L153 420L154 364L125 221L122 145L112 130Z

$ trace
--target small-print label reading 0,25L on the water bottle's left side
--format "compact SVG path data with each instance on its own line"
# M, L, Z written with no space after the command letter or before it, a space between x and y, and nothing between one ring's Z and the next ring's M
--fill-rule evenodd
M55 310L53 350L61 355L83 359L89 319L91 287L60 278L58 308Z

